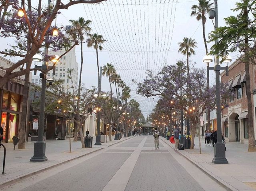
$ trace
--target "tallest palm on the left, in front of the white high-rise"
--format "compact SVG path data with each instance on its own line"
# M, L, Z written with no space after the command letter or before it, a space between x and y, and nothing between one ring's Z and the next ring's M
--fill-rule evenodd
M70 22L72 23L72 28L70 29L70 35L72 36L72 38L77 41L80 42L80 50L81 50L81 66L80 66L80 75L79 75L79 83L78 83L78 100L77 100L77 111L79 111L79 103L80 103L80 91L81 91L81 80L82 80L82 70L83 70L83 63L84 63L84 59L83 59L83 41L84 41L84 35L86 35L88 32L91 31L90 20L84 20L84 18L79 17L78 20L70 20ZM79 113L79 112L78 112ZM76 118L80 119L80 115L77 114ZM80 130L80 135L82 136L82 124L77 124ZM75 132L77 132L77 126L75 126ZM76 133L74 134L74 141L77 141L77 135ZM81 139L82 142L82 147L84 148L84 141L83 138Z

